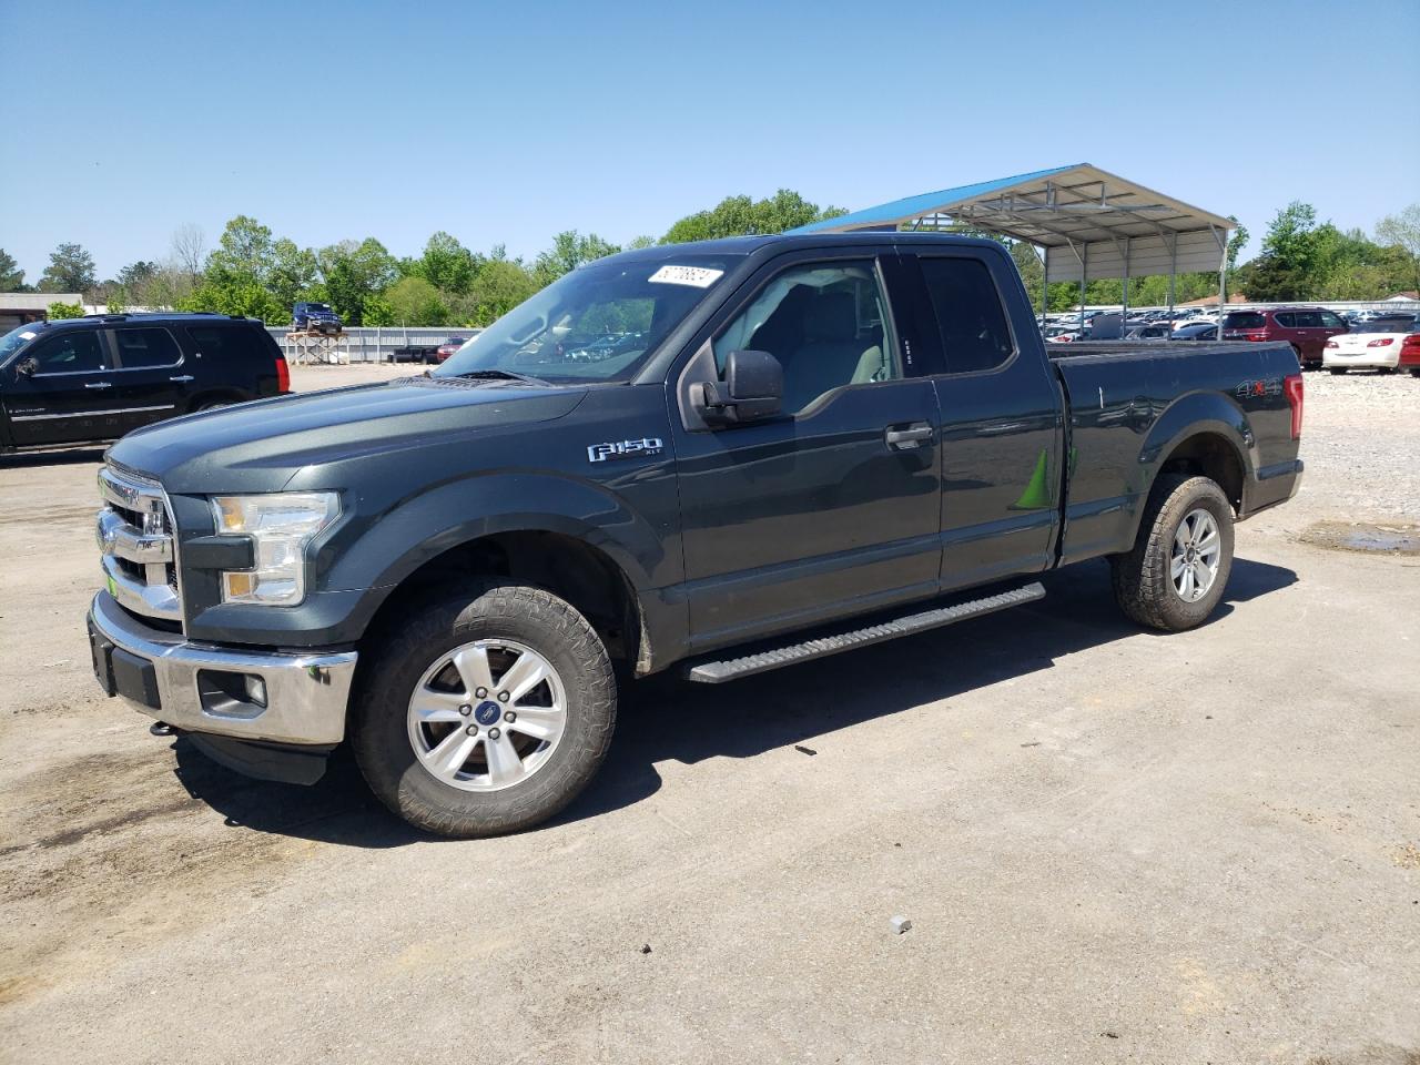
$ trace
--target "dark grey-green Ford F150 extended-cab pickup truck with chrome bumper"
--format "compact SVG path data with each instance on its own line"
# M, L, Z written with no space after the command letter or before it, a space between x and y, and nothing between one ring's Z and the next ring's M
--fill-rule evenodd
M348 741L410 822L507 832L670 666L748 677L1096 557L1140 623L1201 623L1301 423L1287 344L1048 354L987 241L629 251L427 375L124 437L94 667L227 765L312 781Z

